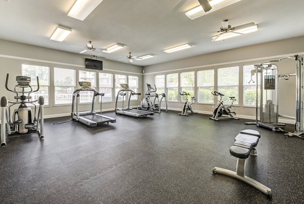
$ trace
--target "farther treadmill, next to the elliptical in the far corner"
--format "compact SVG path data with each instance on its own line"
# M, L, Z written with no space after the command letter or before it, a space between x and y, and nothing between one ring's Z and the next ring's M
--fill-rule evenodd
M149 111L142 111L142 110L136 110L130 108L130 99L132 95L141 95L141 93L135 93L132 89L129 88L129 84L120 84L121 89L118 91L117 96L116 96L116 103L115 103L115 113L116 114L121 114L121 115L128 115L128 116L133 116L137 118L142 118L147 115L154 115L153 112ZM129 94L129 100L128 100L128 107L124 107L124 99L126 92L130 92ZM123 96L123 108L118 108L118 97ZM138 104L138 99L137 99L137 104ZM137 106L138 107L138 106Z

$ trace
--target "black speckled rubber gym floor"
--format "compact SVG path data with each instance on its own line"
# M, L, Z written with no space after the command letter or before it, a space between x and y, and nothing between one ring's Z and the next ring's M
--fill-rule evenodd
M213 121L179 112L133 118L106 112L117 123L86 127L45 119L45 139L10 137L0 148L3 203L304 203L303 140L246 119ZM293 125L287 129L292 130ZM272 189L272 199L242 181L212 174L235 171L229 153L243 129L261 133L246 175Z

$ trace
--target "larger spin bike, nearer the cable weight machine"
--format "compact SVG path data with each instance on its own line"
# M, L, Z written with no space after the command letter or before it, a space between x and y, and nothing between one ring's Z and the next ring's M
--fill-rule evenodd
M221 119L235 119L235 120L239 120L239 118L236 118L234 115L236 115L236 112L231 112L230 109L233 106L233 103L234 101L236 101L236 97L232 97L232 96L229 96L230 100L231 100L231 105L225 107L223 105L223 101L222 101L222 97L224 96L224 94L220 93L220 92L217 92L217 91L212 91L211 92L212 95L215 95L215 96L220 96L219 98L219 101L218 101L218 104L216 106L216 108L213 110L213 115L212 117L210 117L209 119L212 119L212 120L221 120ZM222 117L222 115L227 115L228 117Z

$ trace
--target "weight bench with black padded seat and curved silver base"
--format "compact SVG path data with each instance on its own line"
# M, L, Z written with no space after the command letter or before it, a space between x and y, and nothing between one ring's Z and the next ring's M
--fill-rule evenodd
M222 174L225 176L233 177L239 179L258 190L265 193L269 198L271 198L271 189L264 186L263 184L245 176L245 165L246 159L249 155L256 155L256 146L261 135L256 130L245 129L240 132L235 138L235 143L230 148L230 154L238 158L237 161L237 171L233 172L228 169L214 167L213 174Z

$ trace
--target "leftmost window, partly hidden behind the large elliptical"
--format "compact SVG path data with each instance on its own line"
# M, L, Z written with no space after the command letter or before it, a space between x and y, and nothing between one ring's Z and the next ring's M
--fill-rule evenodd
M39 77L39 91L31 94L31 100L36 100L39 96L43 96L45 105L49 105L50 67L22 64L21 72L23 76L31 78L30 84L33 90L36 90L37 88L37 77Z

